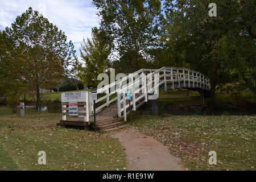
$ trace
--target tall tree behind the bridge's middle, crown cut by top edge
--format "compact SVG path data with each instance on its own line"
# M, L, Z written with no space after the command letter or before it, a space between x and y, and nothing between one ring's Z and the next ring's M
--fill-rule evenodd
M160 0L93 0L101 17L100 29L113 41L112 67L131 73L151 65L149 51L158 47Z

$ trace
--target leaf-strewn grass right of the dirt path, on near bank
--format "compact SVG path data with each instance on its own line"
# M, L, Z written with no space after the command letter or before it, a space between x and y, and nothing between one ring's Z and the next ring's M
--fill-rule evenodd
M256 115L141 117L133 126L158 139L191 170L255 170ZM209 165L209 151L217 165Z

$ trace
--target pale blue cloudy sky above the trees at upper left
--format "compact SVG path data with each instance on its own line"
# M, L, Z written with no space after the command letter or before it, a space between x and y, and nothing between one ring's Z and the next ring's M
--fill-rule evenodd
M63 30L67 40L75 44L78 56L83 38L90 38L92 27L98 27L100 22L91 0L0 0L0 29L10 27L28 7Z

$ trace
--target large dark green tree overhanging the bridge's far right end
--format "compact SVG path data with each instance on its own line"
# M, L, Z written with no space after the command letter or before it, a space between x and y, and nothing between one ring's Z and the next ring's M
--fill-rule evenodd
M210 17L210 2L166 1L164 36L183 61L210 77L214 103L218 84L249 80L255 87L256 16L255 1L216 0L217 16Z

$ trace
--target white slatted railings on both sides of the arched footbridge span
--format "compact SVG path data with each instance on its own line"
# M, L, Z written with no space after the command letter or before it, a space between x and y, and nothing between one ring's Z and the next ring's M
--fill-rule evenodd
M128 81L128 84L127 84ZM96 113L117 101L118 117L124 118L129 114L129 102L127 102L126 91L131 93L131 106L135 111L139 106L148 100L154 100L158 97L158 89L167 90L167 85L171 89L177 88L200 88L210 89L210 80L200 72L187 68L163 67L160 69L140 69L131 73L121 80L112 82L97 90L97 93L106 93L104 97L98 98L96 104L102 102L96 108ZM110 91L114 90L114 91ZM90 99L90 115L93 114L93 102ZM110 98L112 98L110 100ZM104 102L104 103L103 103Z

